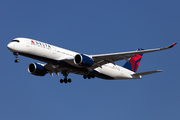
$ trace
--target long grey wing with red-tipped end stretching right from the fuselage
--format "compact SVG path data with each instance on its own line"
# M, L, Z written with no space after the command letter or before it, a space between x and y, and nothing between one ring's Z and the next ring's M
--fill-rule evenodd
M173 43L172 45L164 48L156 48L156 49L147 49L147 50L141 50L141 51L130 51L130 52L120 52L120 53L111 53L111 54L99 54L99 55L92 55L92 58L94 60L94 65L92 66L92 69L96 67L100 67L107 63L114 63L115 61L123 60L125 59L128 61L128 58L134 57L134 54L144 54L144 53L150 53L155 51L161 51L166 50L169 48L172 48L177 43Z

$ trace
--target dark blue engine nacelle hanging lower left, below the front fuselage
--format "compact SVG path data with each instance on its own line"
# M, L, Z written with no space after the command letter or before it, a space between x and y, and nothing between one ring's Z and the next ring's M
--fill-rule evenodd
M44 69L44 66L39 63L29 64L28 72L36 76L45 76L47 73L47 71Z

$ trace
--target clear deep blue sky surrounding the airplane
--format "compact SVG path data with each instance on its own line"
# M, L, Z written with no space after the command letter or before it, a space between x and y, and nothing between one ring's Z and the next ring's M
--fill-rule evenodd
M143 56L137 72L164 70L141 80L84 80L70 74L37 77L33 59L15 57L7 44L27 37L86 54L165 47L179 42L180 1L1 0L1 120L179 120L177 44ZM116 62L123 65L125 61Z

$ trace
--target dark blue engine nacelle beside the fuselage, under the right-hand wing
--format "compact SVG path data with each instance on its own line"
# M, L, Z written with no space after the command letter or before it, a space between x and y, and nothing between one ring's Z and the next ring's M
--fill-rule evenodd
M80 66L91 67L94 64L94 61L87 55L77 54L74 57L74 63Z

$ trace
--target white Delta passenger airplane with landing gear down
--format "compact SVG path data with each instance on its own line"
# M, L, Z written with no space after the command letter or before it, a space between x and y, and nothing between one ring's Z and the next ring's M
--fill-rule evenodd
M67 78L69 73L82 75L84 79L101 78L105 80L127 80L141 79L143 75L162 72L162 70L136 73L144 53L155 52L172 48L177 43L164 48L137 49L137 51L120 52L111 54L87 55L73 52L64 48L56 47L48 43L40 42L29 38L15 38L7 48L15 55L15 63L19 62L18 55L36 59L42 63L30 63L28 72L36 76L45 76L53 73L59 76L61 73L64 79L60 83L71 83ZM123 66L115 62L125 60Z

